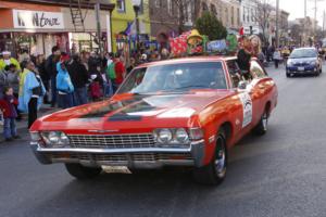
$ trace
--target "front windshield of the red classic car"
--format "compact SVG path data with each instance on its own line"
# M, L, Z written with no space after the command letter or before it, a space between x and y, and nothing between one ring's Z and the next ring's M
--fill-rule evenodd
M222 63L181 63L137 68L118 93L183 92L190 89L226 89Z

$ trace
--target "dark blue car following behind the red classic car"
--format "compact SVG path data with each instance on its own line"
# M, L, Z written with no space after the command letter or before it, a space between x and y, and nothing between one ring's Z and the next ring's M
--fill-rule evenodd
M323 60L315 48L294 49L286 65L287 77L303 74L318 76L322 72Z

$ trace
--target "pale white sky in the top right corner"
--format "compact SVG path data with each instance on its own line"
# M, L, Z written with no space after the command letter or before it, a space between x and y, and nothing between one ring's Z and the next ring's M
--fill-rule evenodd
M290 13L290 21L304 16L304 0L279 0L279 8ZM315 0L306 0L306 12L311 17L314 17L314 8ZM317 0L317 20L319 26L323 25L324 10L326 10L326 0Z

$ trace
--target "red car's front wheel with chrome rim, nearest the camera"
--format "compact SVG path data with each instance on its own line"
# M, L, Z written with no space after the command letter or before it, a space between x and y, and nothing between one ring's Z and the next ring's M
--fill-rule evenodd
M193 179L198 183L218 186L226 176L227 146L225 131L220 130L216 136L216 148L214 156L209 165L195 168Z

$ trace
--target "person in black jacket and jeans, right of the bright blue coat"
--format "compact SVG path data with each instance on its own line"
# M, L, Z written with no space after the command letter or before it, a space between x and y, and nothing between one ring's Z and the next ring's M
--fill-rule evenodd
M80 58L76 54L67 65L74 90L74 105L83 105L88 102L87 82L89 79L88 72L82 63Z

